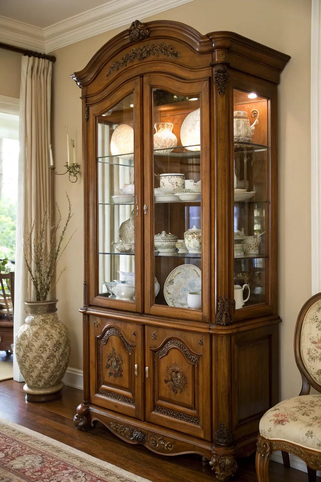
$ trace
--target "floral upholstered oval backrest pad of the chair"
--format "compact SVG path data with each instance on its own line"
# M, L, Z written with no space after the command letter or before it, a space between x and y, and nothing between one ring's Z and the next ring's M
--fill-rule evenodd
M321 301L311 306L303 321L301 355L308 373L321 385Z

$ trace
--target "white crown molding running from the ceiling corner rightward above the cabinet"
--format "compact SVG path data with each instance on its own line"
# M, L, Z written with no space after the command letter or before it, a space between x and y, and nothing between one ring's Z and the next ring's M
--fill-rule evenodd
M43 29L46 54L66 45L88 39L136 18L147 18L193 0L110 0Z

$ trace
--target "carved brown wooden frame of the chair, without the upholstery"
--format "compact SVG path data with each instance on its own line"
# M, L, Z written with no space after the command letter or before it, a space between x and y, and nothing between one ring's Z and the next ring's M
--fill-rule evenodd
M318 301L321 301L321 293L317 293L303 305L299 316L296 320L295 335L294 335L294 352L295 362L302 376L302 388L300 395L308 395L310 388L314 388L318 393L321 393L321 385L319 385L309 374L307 367L303 361L301 353L301 333L303 321L308 313L308 310ZM257 437L257 454L256 454L256 470L258 482L270 482L269 479L269 460L270 455L277 451L282 451L282 457L285 467L290 467L289 454L297 455L301 458L308 467L308 481L316 480L316 470L321 470L321 451L302 447L296 443L285 440L273 440L262 437L260 434Z

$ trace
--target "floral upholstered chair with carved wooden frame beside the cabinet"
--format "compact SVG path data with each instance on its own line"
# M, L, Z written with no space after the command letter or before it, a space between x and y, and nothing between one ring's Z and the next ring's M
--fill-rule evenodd
M271 408L260 421L257 439L257 480L269 482L269 459L282 451L285 467L289 454L300 457L308 466L308 481L316 480L321 469L321 293L302 307L295 326L295 361L302 376L298 397ZM318 395L310 395L310 388ZM304 475L302 476L304 480Z

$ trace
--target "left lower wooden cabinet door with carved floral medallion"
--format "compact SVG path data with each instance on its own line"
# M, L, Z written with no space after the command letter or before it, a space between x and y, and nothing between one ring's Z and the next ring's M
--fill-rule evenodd
M142 420L143 327L90 317L90 400Z

